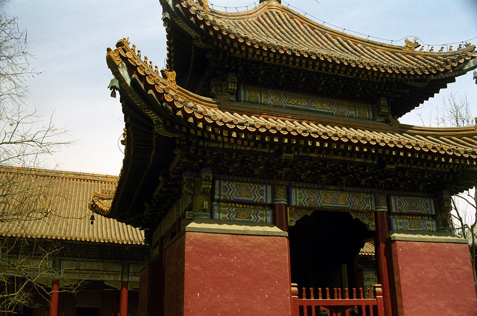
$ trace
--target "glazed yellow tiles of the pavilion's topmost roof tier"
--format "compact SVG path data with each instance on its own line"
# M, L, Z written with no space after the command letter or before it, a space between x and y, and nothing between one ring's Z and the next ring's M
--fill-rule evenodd
M178 12L178 16L188 16L198 33L205 29L208 35L219 40L226 38L229 42L276 54L433 78L446 74L456 76L477 67L475 45L434 52L385 44L326 27L276 2L264 1L243 12L221 12L204 8L192 0L173 0L166 5L173 5L171 9ZM456 73L461 68L463 72Z

